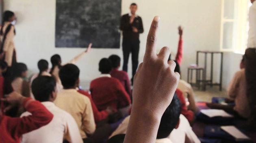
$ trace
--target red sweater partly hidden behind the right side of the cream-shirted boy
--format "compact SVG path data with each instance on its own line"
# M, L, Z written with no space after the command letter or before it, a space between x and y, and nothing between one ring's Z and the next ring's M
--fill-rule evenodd
M87 96L90 101L91 101L91 107L93 109L93 116L94 116L94 120L95 122L99 122L101 120L104 120L108 117L108 112L106 110L103 111L99 111L95 105L95 103L93 102L90 93L88 93L85 90L78 90L78 93L81 93L82 95Z

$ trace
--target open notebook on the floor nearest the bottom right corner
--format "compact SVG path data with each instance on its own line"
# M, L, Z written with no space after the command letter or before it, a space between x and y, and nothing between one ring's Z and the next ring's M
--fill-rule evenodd
M250 140L243 132L238 130L235 126L221 126L221 129L225 132L228 132L232 137L236 139L236 141L247 141Z

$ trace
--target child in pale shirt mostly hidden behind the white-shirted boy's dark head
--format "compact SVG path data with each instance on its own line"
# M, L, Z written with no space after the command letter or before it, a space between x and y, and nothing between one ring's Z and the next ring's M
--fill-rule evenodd
M37 67L39 69L39 73L35 74L34 76L32 76L32 78L30 79L30 96L31 98L35 99L32 90L31 90L31 84L33 82L33 80L35 80L35 78L37 78L38 76L52 76L49 72L49 63L48 61L41 59L37 62Z

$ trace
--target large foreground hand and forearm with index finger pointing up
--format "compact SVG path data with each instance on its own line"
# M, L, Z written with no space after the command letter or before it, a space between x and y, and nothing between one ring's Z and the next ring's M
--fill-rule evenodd
M143 63L135 75L133 104L124 143L155 143L163 113L170 105L180 75L174 72L167 47L156 53L156 32L160 17L154 17ZM143 103L143 104L142 104ZM139 126L138 126L139 124Z

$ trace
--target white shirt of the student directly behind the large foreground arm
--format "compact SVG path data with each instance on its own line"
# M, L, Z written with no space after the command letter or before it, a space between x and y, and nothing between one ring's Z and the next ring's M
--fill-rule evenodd
M124 121L117 127L117 129L112 133L109 139L118 134L126 134L130 116L126 117ZM165 139L157 139L156 143L185 143L185 138L187 137L188 143L200 143L200 140L197 138L193 132L189 121L186 117L180 114L180 125L177 129L174 129L170 136Z

